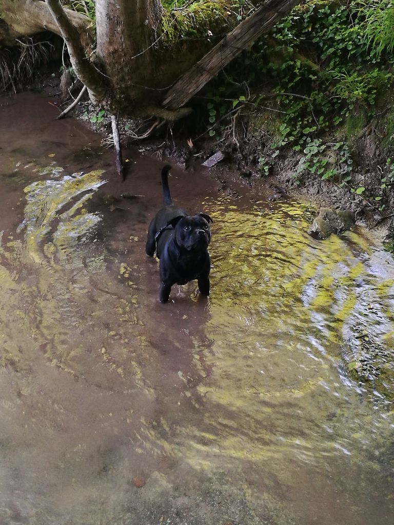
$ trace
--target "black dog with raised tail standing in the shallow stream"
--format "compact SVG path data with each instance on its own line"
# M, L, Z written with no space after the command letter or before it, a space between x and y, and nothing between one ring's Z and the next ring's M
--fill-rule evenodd
M168 186L171 166L161 170L164 208L152 219L148 229L146 252L150 257L156 252L160 259L159 301L167 302L175 283L185 285L197 279L200 293L209 295L211 262L208 245L211 241L209 223L205 213L188 215L172 203Z

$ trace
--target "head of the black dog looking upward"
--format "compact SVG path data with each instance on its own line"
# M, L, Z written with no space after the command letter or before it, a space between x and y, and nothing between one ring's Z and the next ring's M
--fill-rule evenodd
M177 244L188 251L206 249L211 242L209 223L213 220L205 213L174 217L170 225L175 229Z

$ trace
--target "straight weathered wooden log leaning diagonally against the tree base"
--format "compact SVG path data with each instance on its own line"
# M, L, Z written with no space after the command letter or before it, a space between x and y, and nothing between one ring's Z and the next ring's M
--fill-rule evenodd
M224 66L299 3L300 0L267 0L175 82L162 106L172 110L182 107Z

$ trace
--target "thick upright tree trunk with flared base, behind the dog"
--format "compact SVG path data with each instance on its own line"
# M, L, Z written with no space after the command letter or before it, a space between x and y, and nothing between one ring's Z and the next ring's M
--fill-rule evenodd
M160 0L96 0L97 59L111 83L103 103L112 112L167 120L190 113L187 108L169 111L161 101L179 72L204 54L206 44L180 44L177 39L175 46L168 44L166 16L174 27L179 15L169 16Z

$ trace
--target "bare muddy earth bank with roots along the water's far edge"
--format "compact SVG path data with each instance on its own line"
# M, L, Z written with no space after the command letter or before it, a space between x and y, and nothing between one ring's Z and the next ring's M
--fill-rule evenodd
M45 78L39 86L44 95L48 97L48 102L57 108L58 113L67 107L67 103L60 98L58 78ZM74 95L76 96L77 92ZM91 131L101 134L102 143L111 149L110 118L105 113L98 118L98 114L98 109L88 103L85 97L85 100L82 99L82 102L72 110L71 116L80 119ZM132 140L133 130L138 129L137 134L143 134L150 125L124 119L120 122L120 131L125 148L125 158L128 159L129 150L150 152L158 159L167 158L184 169L193 166L195 161L201 164L217 151L222 151L223 160L207 169L206 173L219 183L219 191L222 191L224 195L232 195L236 198L236 188L241 185L246 188L254 188L253 191L266 195L271 201L279 201L286 195L302 199L313 215L318 214L320 207L326 206L351 211L355 213L359 224L374 230L379 238L385 238L392 231L392 217L384 219L385 216L390 216L394 212L394 198L389 182L384 191L383 200L374 200L374 195L381 195L382 192L380 186L383 172L386 173L389 170L383 159L384 152L379 148L377 131L370 133L369 128L366 127L364 134L359 132L354 141L354 180L340 185L331 180L322 180L321 177L311 173L303 176L296 175L299 154L292 151L286 151L271 158L272 151L269 149L267 135L269 135L270 127L275 128L277 122L273 119L272 114L264 112L261 115L257 112L253 119L261 123L261 129L256 128L256 122L248 122L250 131L247 131L245 140L241 141L241 149L233 141L223 144L216 140L207 140L207 135L203 135L195 142L193 130L186 130L187 126L185 127L182 121L179 125L175 125L171 132L161 131L158 138L134 141ZM191 142L188 144L188 141ZM327 141L335 142L335 138L329 137ZM263 150L267 151L262 154ZM265 166L263 171L261 162ZM126 162L125 167L127 172L130 164ZM351 185L356 188L364 185L367 191L364 195L357 194L354 189L351 191ZM383 203L384 207L379 211Z

